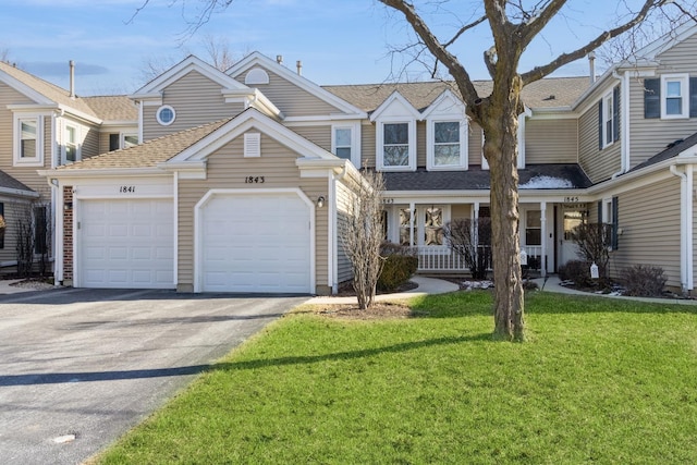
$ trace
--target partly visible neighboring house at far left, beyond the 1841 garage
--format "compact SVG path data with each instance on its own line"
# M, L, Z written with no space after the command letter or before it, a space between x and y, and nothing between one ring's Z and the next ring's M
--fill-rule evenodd
M137 144L132 136L137 112L125 96L81 98L0 62L0 271L16 265L20 221L34 222L37 234L46 230L56 188L37 170ZM49 244L36 237L35 252L44 246Z

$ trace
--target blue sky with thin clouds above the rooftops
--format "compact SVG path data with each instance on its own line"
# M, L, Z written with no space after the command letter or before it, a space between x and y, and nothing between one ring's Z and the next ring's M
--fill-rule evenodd
M143 2L3 2L0 51L8 50L22 69L62 87L68 87L68 62L74 60L78 95L131 93L144 84L142 69L148 60L179 61L186 52L206 59L205 36L225 41L237 59L258 50L271 58L282 54L292 69L302 60L303 74L318 84L380 83L393 81L395 74L401 81L427 77L423 65L412 64L400 73L403 63L390 49L408 42L408 28L375 0L234 0L193 36L186 34L187 22L195 20L198 0L150 0L137 11ZM615 2L570 3L550 32L526 51L521 71L571 51L608 25L601 19L614 16ZM480 4L455 0L452 9L460 5L458 11L470 12L462 17L468 22L480 13L472 7ZM456 25L453 15L442 10L432 20L442 32ZM487 32L486 25L479 26L453 49L474 78L488 78L481 59L490 45ZM587 73L587 62L580 60L558 74Z

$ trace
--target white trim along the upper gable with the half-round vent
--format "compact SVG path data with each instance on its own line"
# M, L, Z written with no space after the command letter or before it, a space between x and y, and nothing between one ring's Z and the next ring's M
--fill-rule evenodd
M244 71L252 70L255 66L266 68L285 81L296 85L303 90L313 94L320 100L335 107L347 114L355 114L356 118L365 118L364 111L356 107L353 102L343 99L334 93L327 91L323 87L318 86L306 77L301 76L297 73L292 72L288 68L278 63L276 60L271 60L267 56L259 53L258 51L252 52L235 64L233 64L225 73L230 76L237 75Z

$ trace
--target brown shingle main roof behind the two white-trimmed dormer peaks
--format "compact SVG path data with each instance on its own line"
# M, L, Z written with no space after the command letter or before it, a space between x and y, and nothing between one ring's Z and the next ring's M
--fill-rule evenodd
M491 93L492 83L490 81L475 81L474 85L479 95ZM548 77L525 86L523 99L525 105L533 109L571 107L589 85L590 79L587 76ZM451 89L455 95L460 95L454 83L442 81L322 86L322 88L366 112L377 109L394 90L399 90L419 111L431 105L445 89Z

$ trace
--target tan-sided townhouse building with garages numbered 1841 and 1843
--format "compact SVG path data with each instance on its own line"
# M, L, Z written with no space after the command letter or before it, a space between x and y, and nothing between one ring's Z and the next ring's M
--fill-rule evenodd
M557 271L576 258L572 229L602 222L611 274L655 265L694 289L696 33L598 79L525 87L528 267ZM189 57L130 97L144 143L41 170L58 185L60 282L334 293L352 277L340 232L360 169L384 173L386 238L417 247L421 271L462 270L442 227L489 215L482 132L449 83L321 87L252 53L227 73Z

